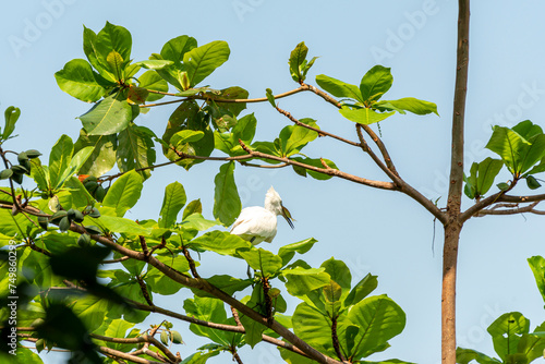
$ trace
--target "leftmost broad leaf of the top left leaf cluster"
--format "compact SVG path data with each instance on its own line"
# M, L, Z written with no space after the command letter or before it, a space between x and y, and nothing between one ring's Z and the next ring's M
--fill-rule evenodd
M90 64L82 59L74 59L55 74L60 89L85 102L95 102L106 94L107 82L93 71ZM110 86L114 86L110 83Z

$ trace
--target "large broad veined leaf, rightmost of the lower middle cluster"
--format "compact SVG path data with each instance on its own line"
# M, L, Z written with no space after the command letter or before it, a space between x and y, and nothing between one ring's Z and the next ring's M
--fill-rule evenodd
M353 338L354 360L368 356L388 340L401 333L405 326L405 314L386 294L367 298L352 306L348 321L360 328Z

